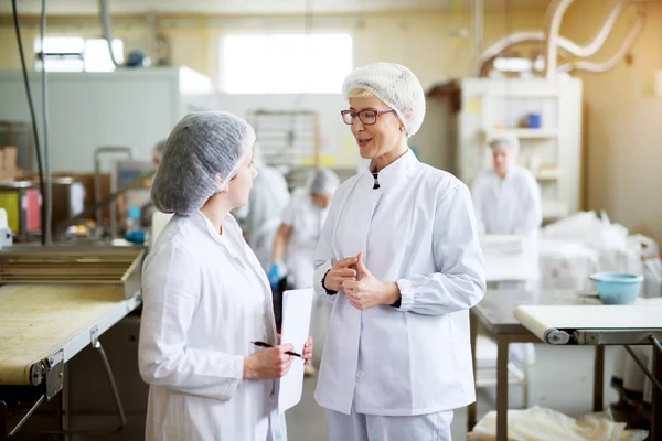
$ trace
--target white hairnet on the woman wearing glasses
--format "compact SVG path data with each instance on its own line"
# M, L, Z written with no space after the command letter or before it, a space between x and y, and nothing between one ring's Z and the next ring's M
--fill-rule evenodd
M374 63L354 69L342 85L342 94L363 89L372 93L391 107L412 137L420 129L425 118L425 93L423 86L405 66L395 63Z

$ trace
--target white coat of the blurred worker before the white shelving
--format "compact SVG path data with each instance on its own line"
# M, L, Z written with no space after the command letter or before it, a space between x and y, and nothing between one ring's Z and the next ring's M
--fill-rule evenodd
M511 165L502 180L494 170L479 174L471 191L476 222L481 235L506 234L528 238L532 262L531 288L540 278L538 229L543 222L541 187L533 174L519 165Z

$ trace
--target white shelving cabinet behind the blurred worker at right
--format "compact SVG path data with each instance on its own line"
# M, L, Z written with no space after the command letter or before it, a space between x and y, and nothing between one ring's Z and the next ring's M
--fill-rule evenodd
M538 180L544 217L552 220L580 208L580 79L463 78L428 95L453 103L446 106L446 118L456 125L455 135L437 147L452 151L448 169L468 185L491 166L488 140L510 132L520 139L519 163ZM540 125L522 127L530 114L540 117Z

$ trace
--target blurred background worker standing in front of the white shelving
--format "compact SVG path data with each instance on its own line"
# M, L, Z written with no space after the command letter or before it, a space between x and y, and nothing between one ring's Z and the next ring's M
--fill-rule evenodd
M536 289L538 270L538 229L543 222L541 187L533 173L517 165L520 141L504 133L490 141L493 168L480 173L471 195L481 235L501 234L526 237L532 256L531 279L523 283L501 284L502 288Z

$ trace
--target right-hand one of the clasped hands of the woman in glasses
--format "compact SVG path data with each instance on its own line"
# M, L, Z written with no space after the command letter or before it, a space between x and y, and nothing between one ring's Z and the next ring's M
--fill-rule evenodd
M399 299L399 289L396 283L380 281L365 267L363 252L359 252L356 269L357 280L346 280L342 290L350 304L359 310L366 310L378 304L393 304Z

